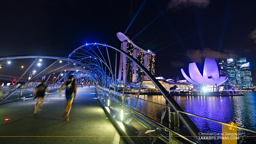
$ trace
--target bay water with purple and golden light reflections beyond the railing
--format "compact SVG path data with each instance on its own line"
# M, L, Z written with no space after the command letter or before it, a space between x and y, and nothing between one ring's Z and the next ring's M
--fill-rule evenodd
M233 121L237 126L256 131L256 92L246 93L244 96L173 96L185 112L196 114L213 120L229 123ZM136 96L136 95L132 95ZM162 95L140 95L139 98L165 105ZM148 102L138 101L138 110L154 120L160 121L162 106L155 106ZM137 107L137 106L136 106ZM168 117L168 115L166 115ZM222 125L201 118L189 116L199 127L201 132L221 133ZM256 136L256 134L237 130L242 136ZM181 133L188 135L185 129ZM239 143L255 142L253 137L240 137ZM221 143L221 141L211 141Z

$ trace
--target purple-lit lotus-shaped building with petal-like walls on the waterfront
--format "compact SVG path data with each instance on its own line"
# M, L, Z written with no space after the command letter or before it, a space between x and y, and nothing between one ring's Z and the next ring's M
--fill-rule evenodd
M182 75L185 79L195 85L204 84L206 86L219 86L226 82L228 77L226 75L219 75L219 69L214 58L206 58L204 61L203 76L196 66L196 63L190 63L188 66L189 76L186 75L183 68Z

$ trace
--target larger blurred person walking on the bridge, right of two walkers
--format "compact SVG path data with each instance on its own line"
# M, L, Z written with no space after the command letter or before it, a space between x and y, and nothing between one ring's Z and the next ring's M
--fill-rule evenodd
M68 76L68 82L64 82L62 84L62 86L60 87L60 92L64 86L66 86L65 95L66 95L66 99L67 99L67 104L65 106L65 112L63 115L65 117L65 121L69 121L69 112L71 109L72 101L73 101L74 97L76 96L76 87L77 87L76 82L74 80L74 75ZM59 92L59 95L60 95L60 92Z

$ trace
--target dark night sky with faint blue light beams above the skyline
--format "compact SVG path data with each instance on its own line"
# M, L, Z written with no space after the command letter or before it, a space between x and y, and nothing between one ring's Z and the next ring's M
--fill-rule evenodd
M246 57L256 85L255 0L0 1L0 57L120 48L117 32L156 53L155 76L184 79L190 62L203 69L206 57Z

